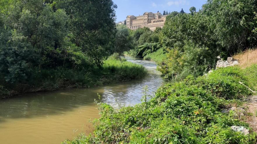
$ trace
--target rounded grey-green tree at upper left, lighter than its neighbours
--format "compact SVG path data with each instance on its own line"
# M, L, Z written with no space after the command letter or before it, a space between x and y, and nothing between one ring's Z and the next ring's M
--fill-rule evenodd
M40 68L61 65L61 52L56 52L67 35L65 12L54 11L51 4L41 0L17 1L12 5L5 17L6 28L24 36L36 49L41 59Z

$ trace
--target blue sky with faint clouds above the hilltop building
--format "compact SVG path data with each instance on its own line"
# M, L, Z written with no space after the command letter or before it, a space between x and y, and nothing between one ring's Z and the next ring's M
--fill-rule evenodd
M189 8L194 6L196 10L202 8L202 5L207 0L113 0L117 4L116 9L116 22L123 21L127 15L143 15L144 12L159 12L163 13L164 10L178 11L181 8L186 13L189 13Z

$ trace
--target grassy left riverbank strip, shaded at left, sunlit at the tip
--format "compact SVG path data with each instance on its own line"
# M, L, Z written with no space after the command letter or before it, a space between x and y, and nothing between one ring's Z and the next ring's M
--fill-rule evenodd
M125 58L117 60L110 56L101 67L88 67L88 69L71 70L59 69L42 72L38 81L17 84L12 88L0 85L0 99L33 93L39 91L52 91L63 88L90 88L105 84L129 81L143 78L147 71L142 65L126 61Z

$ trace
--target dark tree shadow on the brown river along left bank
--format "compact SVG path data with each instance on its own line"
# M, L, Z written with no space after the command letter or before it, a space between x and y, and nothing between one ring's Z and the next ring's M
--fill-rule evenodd
M33 118L41 115L56 115L79 106L95 105L99 88L67 89L40 92L3 99L0 101L1 118ZM3 120L2 120L3 121ZM1 122L1 121L0 121Z

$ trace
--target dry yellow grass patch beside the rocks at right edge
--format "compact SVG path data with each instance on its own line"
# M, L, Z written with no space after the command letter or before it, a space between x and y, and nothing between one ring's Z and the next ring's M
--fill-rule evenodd
M239 66L242 68L246 68L251 66L254 63L257 63L257 48L256 49L248 49L244 52L241 52L233 58L239 60Z

